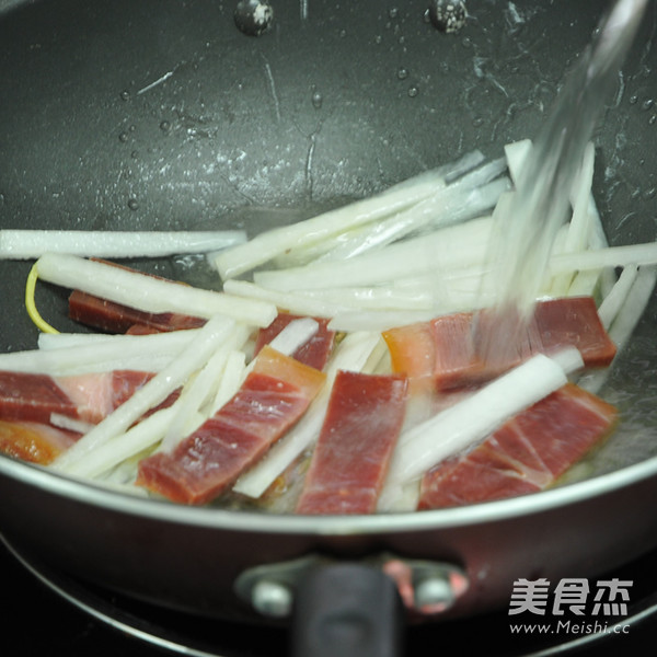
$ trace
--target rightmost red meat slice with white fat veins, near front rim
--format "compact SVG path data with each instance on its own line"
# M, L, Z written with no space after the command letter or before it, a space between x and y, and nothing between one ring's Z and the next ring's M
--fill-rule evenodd
M607 435L616 411L568 383L508 420L482 445L423 477L419 509L542 491Z

